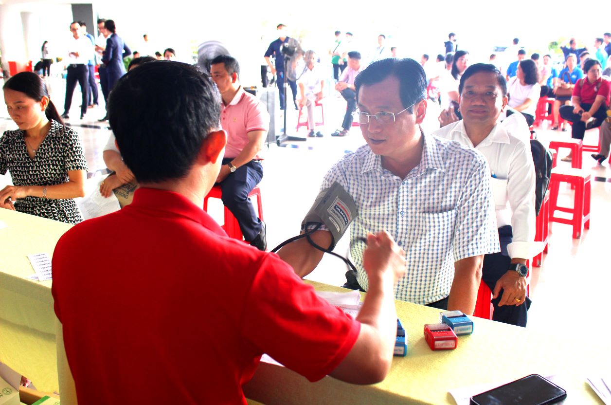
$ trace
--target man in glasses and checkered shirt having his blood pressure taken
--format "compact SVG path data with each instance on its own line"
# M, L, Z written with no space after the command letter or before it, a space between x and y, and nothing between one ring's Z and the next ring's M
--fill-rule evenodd
M362 238L385 229L406 253L397 299L472 314L483 255L500 250L486 158L422 132L426 78L418 62L374 62L355 86L367 145L335 163L321 185L324 190L337 181L357 206L350 251L358 271L347 274L346 285L367 291ZM325 248L337 242L326 229L311 238ZM323 252L299 239L279 255L304 277Z

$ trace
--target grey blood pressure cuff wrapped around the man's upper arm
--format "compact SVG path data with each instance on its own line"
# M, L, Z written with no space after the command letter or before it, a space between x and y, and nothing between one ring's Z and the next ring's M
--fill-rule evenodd
M331 251L357 215L356 204L348 191L338 182L334 182L331 187L318 193L312 208L301 223L301 229L321 223L326 225L333 239L329 247Z

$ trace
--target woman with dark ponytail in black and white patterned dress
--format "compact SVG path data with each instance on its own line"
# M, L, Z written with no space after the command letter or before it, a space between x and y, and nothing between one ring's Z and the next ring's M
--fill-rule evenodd
M63 125L36 73L18 73L2 89L19 129L6 131L0 138L0 174L9 170L14 184L0 190L0 206L81 222L73 198L84 196L87 162L78 134Z

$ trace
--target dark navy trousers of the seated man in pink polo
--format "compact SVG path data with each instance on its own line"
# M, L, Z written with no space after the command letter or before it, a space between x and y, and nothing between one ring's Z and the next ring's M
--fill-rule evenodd
M223 158L222 164L226 165L232 160L233 158ZM262 228L261 220L255 213L251 199L248 198L249 193L261 179L263 179L263 166L251 160L221 182L221 200L238 220L244 240L247 242L255 239Z

